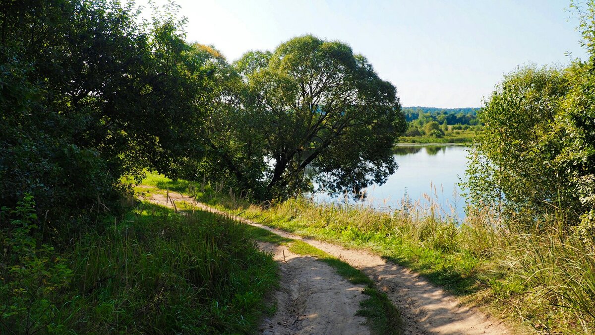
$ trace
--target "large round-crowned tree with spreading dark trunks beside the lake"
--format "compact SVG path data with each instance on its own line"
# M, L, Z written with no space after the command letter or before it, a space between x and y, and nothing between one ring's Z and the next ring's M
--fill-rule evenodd
M391 150L406 123L396 89L348 45L302 36L272 53L248 52L234 67L245 85L235 106L245 111L236 119L248 130L242 147L256 139L252 148L269 163L243 178L259 197L309 190L311 176L330 193L357 193L397 168ZM242 169L224 153L237 154L223 150L228 170Z

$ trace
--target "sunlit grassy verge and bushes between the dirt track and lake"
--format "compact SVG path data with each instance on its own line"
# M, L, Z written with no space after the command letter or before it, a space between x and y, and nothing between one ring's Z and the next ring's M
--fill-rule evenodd
M469 156L463 222L408 199L390 212L302 197L254 201L224 181L199 184L197 199L373 250L538 333L594 333L595 5L572 8L590 58L519 67L487 97Z

